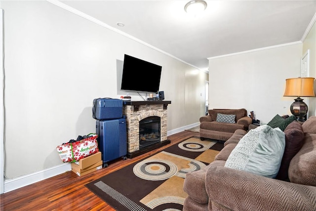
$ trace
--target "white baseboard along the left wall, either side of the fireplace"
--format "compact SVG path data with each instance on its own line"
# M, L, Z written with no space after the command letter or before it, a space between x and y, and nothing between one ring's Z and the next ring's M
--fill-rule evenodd
M189 129L191 127L196 127L198 125L199 123L194 123L185 127L179 127L173 130L169 130L167 131L167 135L172 135L172 134L181 132L183 130ZM31 185L33 183L39 182L44 179L48 179L50 177L65 173L66 171L70 171L70 170L71 170L71 164L64 163L64 164L60 164L48 169L43 169L43 170L36 171L30 174L25 174L19 177L15 177L13 179L4 179L4 192L3 193L7 193L12 190L16 190L24 186Z

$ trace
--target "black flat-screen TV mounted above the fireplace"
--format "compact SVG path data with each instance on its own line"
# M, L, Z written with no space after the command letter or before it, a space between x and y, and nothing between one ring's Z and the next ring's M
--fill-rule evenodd
M121 90L157 93L161 66L124 54Z

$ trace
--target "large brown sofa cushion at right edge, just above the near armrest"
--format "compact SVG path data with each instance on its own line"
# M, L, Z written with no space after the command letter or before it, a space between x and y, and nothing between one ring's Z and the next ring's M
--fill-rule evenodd
M316 186L316 134L305 133L302 148L290 162L288 177L293 183Z

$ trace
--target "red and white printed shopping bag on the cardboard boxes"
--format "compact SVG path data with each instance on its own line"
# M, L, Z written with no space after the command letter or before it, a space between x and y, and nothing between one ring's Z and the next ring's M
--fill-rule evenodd
M56 147L60 159L66 162L76 162L82 158L99 152L98 135L90 136L73 143L65 143Z

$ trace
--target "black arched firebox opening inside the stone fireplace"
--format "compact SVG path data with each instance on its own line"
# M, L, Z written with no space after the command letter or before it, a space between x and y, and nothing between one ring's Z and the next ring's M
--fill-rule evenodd
M139 122L139 149L160 142L160 117L147 117Z

